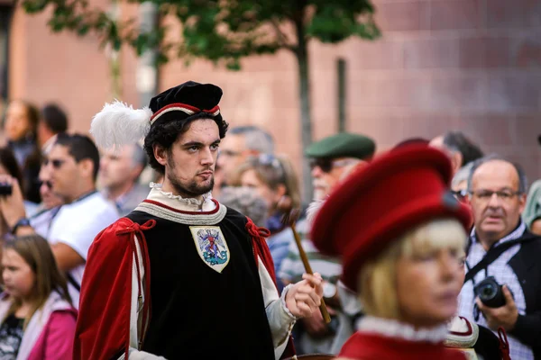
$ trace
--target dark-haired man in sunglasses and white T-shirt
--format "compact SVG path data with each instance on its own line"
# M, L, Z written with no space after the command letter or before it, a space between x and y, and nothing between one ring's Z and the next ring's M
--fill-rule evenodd
M69 294L77 308L88 248L100 230L118 219L118 211L96 192L99 153L87 136L60 134L42 166L48 173L50 190L64 204L56 208L41 235L49 241L60 271L67 276ZM19 210L17 194L14 191L3 199L11 204L9 212L2 210L9 213L7 223L12 232L23 235L36 230L33 227L41 231L35 218L28 220Z

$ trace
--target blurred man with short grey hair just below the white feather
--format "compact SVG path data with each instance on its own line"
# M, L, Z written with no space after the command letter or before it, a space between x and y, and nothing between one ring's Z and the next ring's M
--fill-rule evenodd
M99 183L121 216L133 211L150 192L148 185L137 182L147 163L147 155L139 144L107 150L100 159Z

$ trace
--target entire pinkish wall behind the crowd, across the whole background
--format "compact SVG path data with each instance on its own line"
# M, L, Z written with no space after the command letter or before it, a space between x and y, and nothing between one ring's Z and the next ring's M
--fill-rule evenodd
M95 0L97 1L97 0ZM105 4L105 0L99 0ZM336 60L347 62L347 128L378 148L411 136L463 130L486 152L518 160L541 175L541 2L534 0L376 0L383 37L310 44L314 138L337 129ZM132 12L132 13L130 13ZM134 9L123 14L135 14ZM107 58L92 37L50 35L46 16L17 12L12 31L12 97L58 100L73 129L87 130L110 100ZM136 59L123 50L123 98L138 103ZM232 125L271 131L280 152L299 163L295 58L287 51L243 61L232 73L205 61L160 69L160 89L188 79L223 87Z

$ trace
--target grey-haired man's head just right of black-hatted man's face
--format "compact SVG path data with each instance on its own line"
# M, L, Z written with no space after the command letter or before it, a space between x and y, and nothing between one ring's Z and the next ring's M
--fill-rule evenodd
M235 169L248 157L260 154L274 154L274 140L267 131L257 126L237 126L227 131L227 137L220 143L217 166L223 171L226 184ZM214 192L213 192L214 193Z

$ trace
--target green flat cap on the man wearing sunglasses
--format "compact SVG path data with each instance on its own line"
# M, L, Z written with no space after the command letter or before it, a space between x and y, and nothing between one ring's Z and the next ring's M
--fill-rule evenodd
M341 132L312 143L305 150L307 157L355 157L365 158L374 155L374 140L364 135Z

